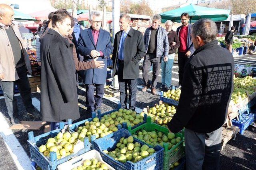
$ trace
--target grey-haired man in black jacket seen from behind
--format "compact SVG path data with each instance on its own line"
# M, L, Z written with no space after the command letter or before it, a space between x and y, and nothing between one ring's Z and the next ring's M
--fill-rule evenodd
M217 26L200 19L192 26L196 51L185 66L177 112L168 128L185 127L187 170L219 169L222 125L233 91L234 59L218 46Z

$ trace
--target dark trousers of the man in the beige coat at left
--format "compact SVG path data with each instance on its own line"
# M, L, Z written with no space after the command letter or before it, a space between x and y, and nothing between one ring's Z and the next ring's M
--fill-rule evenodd
M20 79L14 82L0 81L0 85L4 92L5 104L8 110L8 114L11 118L12 117L18 118L18 113L19 113L17 100L16 98L14 98L15 84L17 84L18 86L18 90L20 91L20 97L26 108L26 111L31 111L34 108L34 106L32 105L31 88L28 82L26 67L22 66L20 68L16 68L16 71Z

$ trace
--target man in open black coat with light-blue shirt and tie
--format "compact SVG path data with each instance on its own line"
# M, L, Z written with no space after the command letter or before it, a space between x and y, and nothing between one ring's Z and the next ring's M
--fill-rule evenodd
M116 33L114 39L112 76L118 75L122 108L127 108L127 89L129 89L129 109L134 111L137 79L140 73L138 62L144 57L146 51L142 33L130 27L130 21L131 18L127 14L120 16L119 26L121 31Z

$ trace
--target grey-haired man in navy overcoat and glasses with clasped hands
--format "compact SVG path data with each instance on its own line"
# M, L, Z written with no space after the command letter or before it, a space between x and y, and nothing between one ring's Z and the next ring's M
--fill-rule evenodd
M91 27L80 32L77 50L86 60L99 57L98 61L104 61L105 64L103 69L92 68L85 71L86 105L91 113L101 106L107 76L107 58L112 54L113 46L110 33L101 28L100 13L91 12L89 22ZM94 87L96 88L95 96Z

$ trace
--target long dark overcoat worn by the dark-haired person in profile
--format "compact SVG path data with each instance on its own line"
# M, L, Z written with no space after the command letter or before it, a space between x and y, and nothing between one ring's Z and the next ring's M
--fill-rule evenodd
M54 29L49 29L40 48L42 120L59 122L78 119L73 44Z

